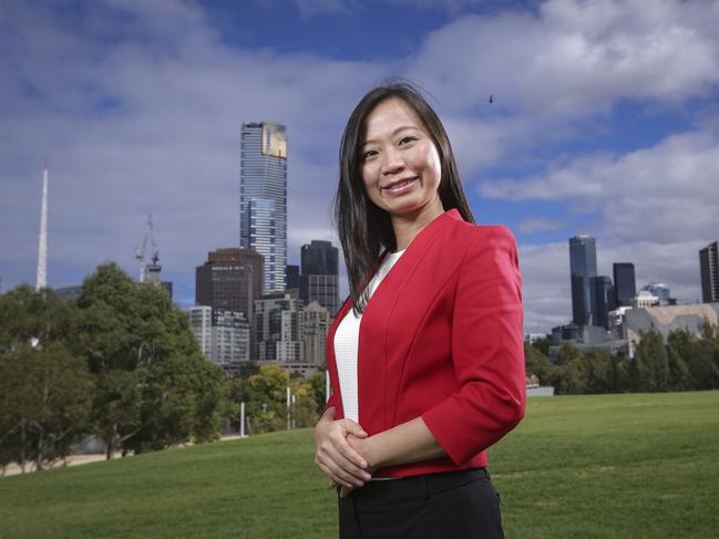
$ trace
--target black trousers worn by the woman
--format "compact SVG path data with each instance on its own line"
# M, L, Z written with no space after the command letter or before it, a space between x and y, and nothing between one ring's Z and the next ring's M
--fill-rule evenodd
M504 538L484 468L373 480L338 499L340 539Z

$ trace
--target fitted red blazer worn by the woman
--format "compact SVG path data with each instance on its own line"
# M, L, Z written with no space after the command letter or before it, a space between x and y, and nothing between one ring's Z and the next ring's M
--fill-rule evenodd
M384 253L382 255L384 256ZM336 418L343 417L327 335ZM370 298L360 323L359 424L371 436L422 416L448 456L390 466L378 477L476 468L524 416L522 280L514 237L451 209L412 240Z

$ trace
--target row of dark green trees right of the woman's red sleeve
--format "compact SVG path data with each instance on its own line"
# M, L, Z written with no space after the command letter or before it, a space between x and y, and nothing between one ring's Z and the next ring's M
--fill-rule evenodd
M565 342L552 361L548 349L546 339L525 343L526 373L556 394L719 388L719 332L708 321L701 336L686 329L666 340L654 329L644 332L633 359L600 349L582 353Z

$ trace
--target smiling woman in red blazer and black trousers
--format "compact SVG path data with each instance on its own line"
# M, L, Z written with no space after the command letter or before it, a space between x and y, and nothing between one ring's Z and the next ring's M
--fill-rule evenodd
M442 123L411 85L352 112L335 217L350 298L327 338L315 442L340 537L503 537L485 467L524 415L516 245L474 225Z

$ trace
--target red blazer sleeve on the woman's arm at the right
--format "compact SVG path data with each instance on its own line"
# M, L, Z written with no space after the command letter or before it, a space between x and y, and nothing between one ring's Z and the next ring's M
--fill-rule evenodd
M524 416L522 278L514 237L481 227L460 268L452 318L459 390L422 414L458 466L509 433Z

